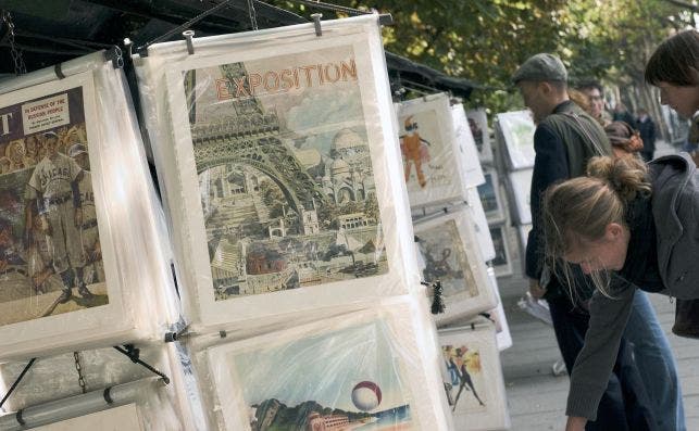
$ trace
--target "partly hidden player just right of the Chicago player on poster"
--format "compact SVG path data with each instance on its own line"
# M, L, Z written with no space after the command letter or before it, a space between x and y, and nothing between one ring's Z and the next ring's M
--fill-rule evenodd
M83 208L80 237L86 261L83 275L85 282L91 284L98 281L104 281L104 265L102 264L102 249L97 228L97 212L95 210L90 160L87 149L82 143L71 145L68 156L83 169L83 178L78 182L80 207Z

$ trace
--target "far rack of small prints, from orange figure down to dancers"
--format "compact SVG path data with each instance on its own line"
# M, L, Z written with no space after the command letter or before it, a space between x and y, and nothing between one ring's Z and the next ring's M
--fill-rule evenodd
M396 104L421 271L424 282L438 289L433 307L437 294L444 300L444 313L433 318L441 328L445 388L455 429L505 429L498 347L511 346L512 339L486 264L497 257L488 231L492 212L486 214L477 190L489 178L480 160L491 162L492 151L485 111L472 114L469 118L446 93ZM491 337L492 348L470 344L482 332Z

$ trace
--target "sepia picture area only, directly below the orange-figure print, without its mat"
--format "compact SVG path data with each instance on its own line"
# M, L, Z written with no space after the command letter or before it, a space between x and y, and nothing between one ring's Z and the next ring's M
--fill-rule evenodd
M461 292L467 292L469 296L478 294L455 219L421 230L416 238L425 261L425 281L440 280L445 296Z

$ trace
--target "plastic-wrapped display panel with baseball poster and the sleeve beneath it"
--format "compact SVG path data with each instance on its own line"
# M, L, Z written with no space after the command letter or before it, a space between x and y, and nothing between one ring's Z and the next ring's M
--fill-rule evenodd
M186 428L161 341L178 316L171 246L121 64L100 51L0 85L3 430Z

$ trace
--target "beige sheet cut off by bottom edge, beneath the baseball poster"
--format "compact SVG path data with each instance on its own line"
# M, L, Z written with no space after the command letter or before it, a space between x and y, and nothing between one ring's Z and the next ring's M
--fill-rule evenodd
M33 429L36 431L143 431L136 404L127 404Z

